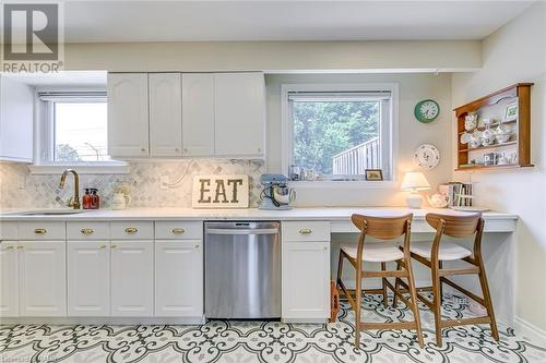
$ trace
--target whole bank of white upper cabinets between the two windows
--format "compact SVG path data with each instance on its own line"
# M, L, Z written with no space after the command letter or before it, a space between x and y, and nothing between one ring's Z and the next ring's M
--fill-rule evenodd
M110 156L263 158L264 145L262 73L108 75Z

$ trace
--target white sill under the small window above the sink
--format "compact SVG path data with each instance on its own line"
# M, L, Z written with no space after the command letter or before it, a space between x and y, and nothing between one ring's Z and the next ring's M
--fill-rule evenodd
M128 174L126 162L106 164L33 164L28 166L31 174L60 174L67 169L74 169L79 174Z

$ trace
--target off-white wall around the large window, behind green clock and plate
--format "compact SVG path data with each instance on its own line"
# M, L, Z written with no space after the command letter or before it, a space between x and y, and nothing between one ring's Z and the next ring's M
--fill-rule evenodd
M404 172L416 170L414 150L423 143L436 145L441 161L425 174L435 190L451 177L451 80L449 74L306 74L266 75L268 97L268 171L281 170L281 85L288 83L397 83L399 84L399 184ZM431 123L420 123L414 117L415 105L434 98L440 105L440 116ZM317 190L298 189L298 206L401 206L405 194L394 190Z

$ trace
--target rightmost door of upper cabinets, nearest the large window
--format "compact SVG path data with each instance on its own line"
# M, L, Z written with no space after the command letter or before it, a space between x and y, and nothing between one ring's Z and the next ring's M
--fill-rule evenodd
M265 97L262 73L214 75L216 156L263 157Z

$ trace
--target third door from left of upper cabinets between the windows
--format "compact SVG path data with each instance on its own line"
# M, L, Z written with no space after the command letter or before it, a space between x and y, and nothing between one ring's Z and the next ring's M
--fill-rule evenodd
M214 155L214 74L182 74L183 156Z

